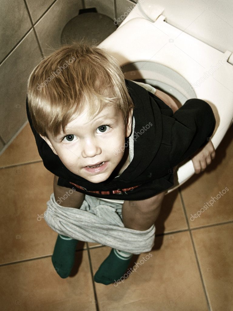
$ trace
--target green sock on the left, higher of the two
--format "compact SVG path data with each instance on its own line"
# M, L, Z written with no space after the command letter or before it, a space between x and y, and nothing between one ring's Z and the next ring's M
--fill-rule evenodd
M52 255L52 264L56 272L65 279L74 265L75 250L78 240L58 234Z

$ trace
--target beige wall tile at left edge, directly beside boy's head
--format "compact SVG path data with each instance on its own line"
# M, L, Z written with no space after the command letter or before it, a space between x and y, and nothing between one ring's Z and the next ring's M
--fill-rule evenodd
M0 135L4 142L27 121L27 80L41 58L33 30L0 66Z

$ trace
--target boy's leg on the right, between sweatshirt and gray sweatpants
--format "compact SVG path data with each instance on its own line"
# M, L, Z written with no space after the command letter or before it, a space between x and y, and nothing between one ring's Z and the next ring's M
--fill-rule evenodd
M122 206L122 219L126 228L134 230L147 230L157 219L166 191L154 197L139 201L124 201Z

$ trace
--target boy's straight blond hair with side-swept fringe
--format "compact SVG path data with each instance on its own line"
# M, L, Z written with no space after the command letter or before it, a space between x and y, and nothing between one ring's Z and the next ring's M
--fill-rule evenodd
M105 49L83 42L62 46L43 58L30 74L27 95L32 125L45 137L47 131L54 137L61 128L65 132L74 115L86 107L94 117L103 105L114 105L125 124L134 108L117 60Z

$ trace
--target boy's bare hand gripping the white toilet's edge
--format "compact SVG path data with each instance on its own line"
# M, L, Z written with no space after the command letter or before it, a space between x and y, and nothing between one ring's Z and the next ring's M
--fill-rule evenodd
M201 151L191 158L195 169L195 174L199 174L206 169L206 166L211 163L211 159L215 158L215 149L213 143L209 141Z

